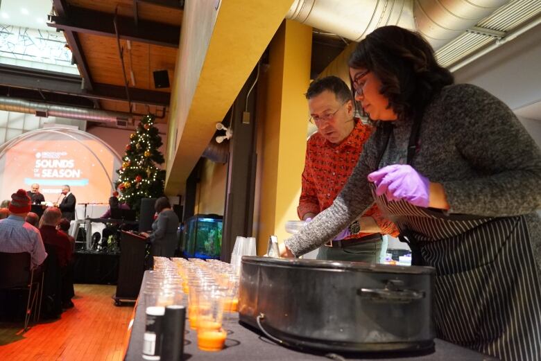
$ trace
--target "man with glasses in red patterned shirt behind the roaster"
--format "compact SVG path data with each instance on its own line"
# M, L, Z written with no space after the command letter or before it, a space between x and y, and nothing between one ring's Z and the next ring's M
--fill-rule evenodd
M302 192L297 213L311 220L327 209L350 177L372 134L372 126L354 118L352 94L336 76L315 80L306 97L311 121L318 131L307 142L302 172ZM395 225L384 219L374 204L334 240L320 247L318 259L379 262L381 234L398 234Z

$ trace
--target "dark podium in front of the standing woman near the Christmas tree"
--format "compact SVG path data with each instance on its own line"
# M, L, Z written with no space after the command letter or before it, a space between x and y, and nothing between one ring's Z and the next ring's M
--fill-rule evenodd
M112 297L116 306L137 299L145 272L145 252L145 237L121 231L119 279L117 293Z

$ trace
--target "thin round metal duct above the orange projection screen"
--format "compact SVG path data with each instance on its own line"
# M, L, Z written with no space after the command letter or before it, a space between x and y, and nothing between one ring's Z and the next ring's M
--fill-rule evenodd
M52 105L24 99L9 98L7 96L0 96L0 110L34 114L35 116L58 116L61 118L79 119L81 121L115 123L119 126L126 126L132 121L131 115L126 113L68 107L65 105Z

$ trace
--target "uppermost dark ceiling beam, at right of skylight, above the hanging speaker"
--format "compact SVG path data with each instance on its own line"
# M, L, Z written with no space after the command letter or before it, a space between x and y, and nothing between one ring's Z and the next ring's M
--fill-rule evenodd
M56 0L62 1L62 0ZM66 32L85 33L108 37L117 37L114 32L114 14L70 6L69 15L51 16L47 25ZM133 42L143 42L160 46L178 48L180 27L155 21L137 20L137 26L131 17L117 16L119 37Z

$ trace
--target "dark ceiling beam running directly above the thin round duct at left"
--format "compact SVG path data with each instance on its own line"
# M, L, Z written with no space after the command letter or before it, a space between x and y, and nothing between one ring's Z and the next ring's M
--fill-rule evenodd
M94 83L91 91L83 89L81 82L79 76L71 74L0 64L0 85L5 87L49 91L96 100L128 101L125 87ZM164 91L130 88L129 92L132 103L169 107L171 94Z

